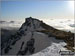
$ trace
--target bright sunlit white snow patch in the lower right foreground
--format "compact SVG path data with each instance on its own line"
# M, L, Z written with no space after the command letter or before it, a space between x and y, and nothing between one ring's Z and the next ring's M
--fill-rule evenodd
M47 47L46 49L31 56L61 56L59 54L61 48L63 48L63 46L53 43L51 46Z

